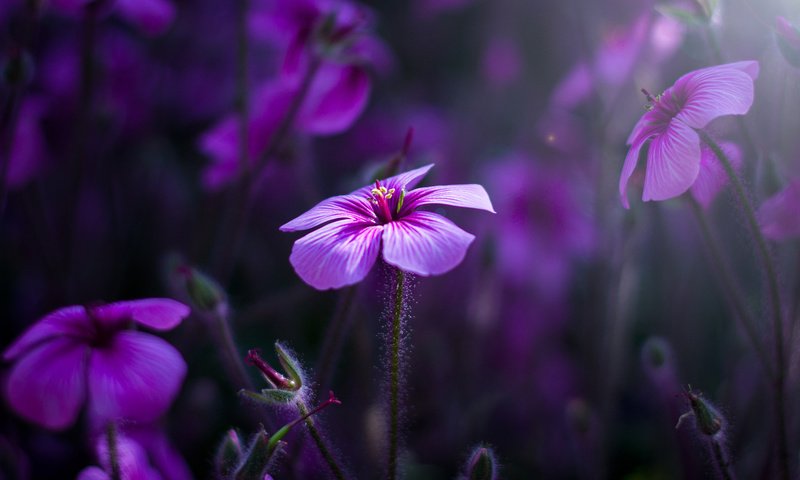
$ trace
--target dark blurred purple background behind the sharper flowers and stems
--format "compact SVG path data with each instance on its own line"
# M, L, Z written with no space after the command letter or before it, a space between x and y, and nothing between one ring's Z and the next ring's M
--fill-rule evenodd
M407 478L455 478L482 442L507 479L709 478L702 439L674 428L688 385L724 413L740 475L773 478L769 385L689 204L643 203L633 186L625 210L617 182L647 103L640 89L739 60L760 62L753 107L711 131L741 150L756 205L798 177L800 70L776 40L776 16L800 22L797 2L719 0L710 16L703 5L715 2L674 0L349 5L369 41L334 63L363 75L353 87L363 105L342 101L350 118L335 126L290 126L247 203L225 163L236 129L221 124L235 119L242 85L251 112L280 111L261 92L285 73L295 39L275 19L292 3L0 3L0 345L64 305L186 301L176 266L195 266L228 292L242 353L262 348L276 363L281 340L319 372L330 325L344 325L341 355L314 386L343 404L320 420L348 469L377 477L386 270L316 291L288 262L299 235L278 227L369 183L413 128L400 168L435 163L428 185L480 183L497 214L443 209L477 240L455 270L413 281ZM265 144L251 146L256 156ZM706 218L770 341L759 264L727 189ZM791 325L797 243L772 248ZM164 336L189 372L160 425L195 478L211 478L224 432L255 431L261 407L237 397L203 316ZM1 418L3 478L74 478L96 463L82 422L49 432L7 404ZM303 435L289 446L275 478L325 477Z

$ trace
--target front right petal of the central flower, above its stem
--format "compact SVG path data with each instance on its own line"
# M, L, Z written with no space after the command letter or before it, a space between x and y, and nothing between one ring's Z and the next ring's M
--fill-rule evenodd
M433 212L413 212L385 225L383 259L417 275L439 275L455 268L475 239Z

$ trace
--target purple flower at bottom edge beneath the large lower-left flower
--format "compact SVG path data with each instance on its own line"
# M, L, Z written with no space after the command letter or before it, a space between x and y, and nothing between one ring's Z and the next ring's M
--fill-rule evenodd
M117 436L117 459L120 480L161 480L161 475L150 467L147 454L138 443L124 435ZM101 435L96 445L97 459L101 467L87 467L78 474L78 480L112 480L111 458L108 436Z

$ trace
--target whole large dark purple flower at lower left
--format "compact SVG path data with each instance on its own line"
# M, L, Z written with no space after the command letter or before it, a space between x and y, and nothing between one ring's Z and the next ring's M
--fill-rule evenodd
M70 426L87 400L93 421L151 421L169 407L186 374L180 353L131 321L169 330L186 305L152 298L56 310L3 354L15 361L6 385L11 407L46 428Z

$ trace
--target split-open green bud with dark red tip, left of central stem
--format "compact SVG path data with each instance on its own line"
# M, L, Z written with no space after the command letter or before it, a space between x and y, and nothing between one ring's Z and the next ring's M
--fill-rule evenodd
M247 352L247 363L259 369L269 387L262 389L261 393L242 390L242 395L267 405L286 405L300 398L305 382L299 362L280 342L275 342L275 353L285 375L272 368L261 357L260 350L251 349Z

